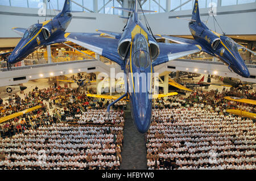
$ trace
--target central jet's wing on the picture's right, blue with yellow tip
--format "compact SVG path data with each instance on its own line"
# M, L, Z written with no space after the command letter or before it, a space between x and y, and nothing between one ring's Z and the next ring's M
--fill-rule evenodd
M191 44L158 43L158 45L160 53L158 58L152 62L152 66L164 64L170 60L200 52L202 49L200 45Z

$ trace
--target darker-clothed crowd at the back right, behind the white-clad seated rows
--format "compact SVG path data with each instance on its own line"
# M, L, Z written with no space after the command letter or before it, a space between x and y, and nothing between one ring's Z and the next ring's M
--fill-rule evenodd
M228 115L226 110L237 108L242 108L247 112L256 112L256 106L253 104L243 104L241 106L238 102L224 99L225 96L256 100L255 93L250 94L249 92L241 95L240 91L195 91L186 98L170 96L167 100L159 99L156 101L155 108L200 107L210 110L211 113L218 112L224 115Z

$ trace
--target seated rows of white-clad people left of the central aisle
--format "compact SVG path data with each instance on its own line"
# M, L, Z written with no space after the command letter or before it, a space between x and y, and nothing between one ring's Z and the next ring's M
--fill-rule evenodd
M123 127L57 123L0 141L1 169L119 169Z

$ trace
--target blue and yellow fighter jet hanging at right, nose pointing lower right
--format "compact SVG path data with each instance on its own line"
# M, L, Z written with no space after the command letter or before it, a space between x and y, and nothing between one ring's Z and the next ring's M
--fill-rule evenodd
M188 26L195 40L166 35L163 35L162 37L180 44L199 44L202 47L203 52L220 58L224 64L228 65L230 71L234 71L242 77L250 77L249 70L238 53L238 49L249 49L237 44L228 36L222 36L219 33L209 30L200 19L199 4L197 0L195 1L192 19L188 23Z

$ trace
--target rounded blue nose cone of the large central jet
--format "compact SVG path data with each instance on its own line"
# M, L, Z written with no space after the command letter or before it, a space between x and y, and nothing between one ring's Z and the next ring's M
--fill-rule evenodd
M138 116L135 118L135 125L139 132L146 133L150 127L151 113L146 108L138 109Z

